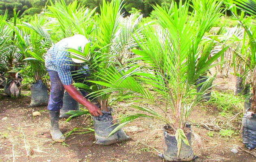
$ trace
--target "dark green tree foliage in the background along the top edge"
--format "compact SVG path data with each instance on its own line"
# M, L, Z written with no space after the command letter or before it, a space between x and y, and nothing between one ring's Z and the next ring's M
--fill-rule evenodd
M97 7L96 12L100 13L100 4L103 0L78 0L78 3L89 7L89 9L94 9ZM111 0L106 0L110 2ZM124 0L126 4L125 10L127 12L136 9L141 11L144 17L150 15L153 10L152 5L167 5L170 6L172 1L178 0ZM46 4L48 2L48 4ZM54 2L54 0L52 0ZM65 0L67 4L74 2L74 0ZM48 0L2 0L0 2L0 15L3 15L5 10L8 11L8 18L13 16L13 9L20 11L20 17L24 17L25 21L29 21L31 16L40 13L42 9L51 5Z

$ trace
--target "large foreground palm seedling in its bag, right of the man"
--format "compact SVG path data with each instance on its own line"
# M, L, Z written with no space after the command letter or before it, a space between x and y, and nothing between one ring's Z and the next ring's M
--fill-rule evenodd
M211 2L217 6L222 3L216 0ZM187 120L195 102L189 103L187 98L195 94L192 88L196 80L216 64L207 64L197 73L190 72L190 69L195 66L195 63L192 64L193 61L195 62L193 59L195 55L198 55L198 48L202 44L202 36L197 36L197 28L206 30L206 28L202 28L206 24L198 21L194 16L195 12L192 15L189 14L188 2L184 5L182 3L177 5L173 2L169 9L163 9L161 6L154 6L154 9L160 28L156 31L151 26L146 26L141 31L141 36L138 34L137 37L134 36L139 49L132 50L137 55L132 59L145 63L145 66L141 67L139 64L131 63L125 67L129 67L128 70L113 70L112 75L106 70L98 72L98 76L103 79L103 82L97 83L109 88L95 93L101 96L115 90L120 92L118 93L120 98L131 99L131 94L136 92L134 96L137 99L133 100L134 103L143 100L154 103L154 97L148 91L143 90L141 83L152 86L152 90L157 93L157 96L164 98L163 105L157 105L163 114L158 113L149 104L147 107L133 105L133 108L144 113L119 117L120 124L115 125L116 128L108 136L141 117L160 119L167 124L164 126L163 158L169 161L190 161L194 154L191 147L191 126ZM204 33L204 31L200 32ZM194 56L192 60L191 56ZM213 63L213 59L217 58L217 56L213 56L210 58L210 62ZM127 79L134 79L134 81L127 84ZM122 82L126 84L122 84ZM121 87L121 85L125 85L125 87ZM138 86L142 89L131 90L132 87ZM172 136L174 134L175 136Z

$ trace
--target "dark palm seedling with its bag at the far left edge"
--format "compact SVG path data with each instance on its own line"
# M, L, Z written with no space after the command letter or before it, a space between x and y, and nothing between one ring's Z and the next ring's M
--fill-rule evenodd
M21 77L18 75L18 71L15 69L24 55L20 53L18 49L17 34L13 28L16 27L19 12L13 12L13 19L7 21L3 19L1 21L1 43L0 43L0 62L3 65L2 69L7 77L7 83L4 86L4 93L9 96L15 96L16 98L20 95L21 89ZM5 17L5 16L4 16Z

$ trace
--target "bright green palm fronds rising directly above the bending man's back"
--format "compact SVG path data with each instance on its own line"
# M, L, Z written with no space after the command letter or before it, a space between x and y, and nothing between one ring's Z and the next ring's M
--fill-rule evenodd
M49 12L45 14L51 17L51 21L47 25L52 27L49 30L54 33L51 36L55 41L74 34L87 36L93 31L92 16L95 13L95 9L89 10L79 4L78 1L67 5L64 0L56 0L55 4L51 2L51 6L48 6L48 9Z

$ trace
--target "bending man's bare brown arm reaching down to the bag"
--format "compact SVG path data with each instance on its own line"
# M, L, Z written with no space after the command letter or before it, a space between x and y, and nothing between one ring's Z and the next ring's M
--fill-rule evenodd
M84 105L88 110L89 113L93 116L99 116L102 115L102 112L100 109L93 103L91 103L89 100L84 98L80 92L74 87L74 85L64 85L65 90L67 93L74 98L74 100L78 101L80 104Z

